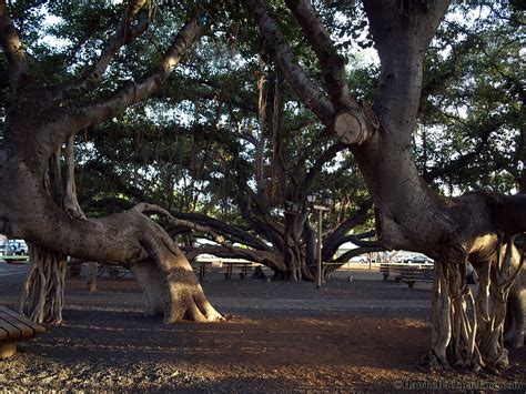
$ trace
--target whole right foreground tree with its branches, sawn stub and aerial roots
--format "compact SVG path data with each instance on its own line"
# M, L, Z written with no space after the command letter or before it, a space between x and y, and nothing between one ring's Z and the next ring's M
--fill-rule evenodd
M373 111L352 97L344 62L312 2L285 2L320 60L330 100L293 62L266 3L245 0L289 83L351 145L376 206L381 243L424 252L436 261L432 360L442 366L506 366L502 326L508 286L516 276L510 266L517 263L508 240L526 230L526 198L443 198L421 179L412 153L424 54L448 1L364 0L382 70ZM466 316L467 261L482 276L473 323Z

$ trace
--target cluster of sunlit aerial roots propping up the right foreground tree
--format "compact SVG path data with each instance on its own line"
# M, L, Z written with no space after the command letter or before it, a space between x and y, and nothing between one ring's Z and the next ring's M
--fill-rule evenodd
M427 357L432 368L497 372L509 367L504 319L509 286L522 269L519 261L512 239L502 246L496 261L478 264L476 301L466 285L466 262L435 262L432 350Z

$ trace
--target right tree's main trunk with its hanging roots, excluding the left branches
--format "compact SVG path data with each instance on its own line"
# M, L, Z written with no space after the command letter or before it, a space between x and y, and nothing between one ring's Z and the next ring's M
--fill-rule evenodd
M518 265L513 242L500 247L498 225L506 219L483 194L446 200L431 192L412 156L423 54L444 4L390 2L391 10L373 1L365 6L382 62L374 104L381 128L353 151L378 209L380 239L387 247L419 250L436 260L432 361L445 367L451 363L475 370L506 367L502 333L508 286L515 277L512 267ZM512 232L513 221L505 224L505 233ZM473 300L465 282L467 260L481 280L477 302L472 302L473 322L466 312L466 300Z

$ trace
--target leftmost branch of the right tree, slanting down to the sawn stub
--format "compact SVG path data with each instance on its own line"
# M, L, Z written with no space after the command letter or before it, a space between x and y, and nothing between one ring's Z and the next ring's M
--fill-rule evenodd
M265 38L265 44L274 61L285 75L286 81L294 89L300 99L314 112L325 125L331 125L335 110L325 98L323 91L316 87L305 71L294 62L291 48L272 16L264 0L244 0L249 13L254 18Z

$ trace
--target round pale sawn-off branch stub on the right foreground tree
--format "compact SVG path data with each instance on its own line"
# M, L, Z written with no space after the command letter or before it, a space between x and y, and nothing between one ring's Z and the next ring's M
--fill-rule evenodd
M373 110L363 105L364 114L340 111L334 118L333 130L338 140L347 145L362 144L368 140L378 128L378 120Z

